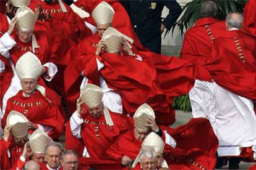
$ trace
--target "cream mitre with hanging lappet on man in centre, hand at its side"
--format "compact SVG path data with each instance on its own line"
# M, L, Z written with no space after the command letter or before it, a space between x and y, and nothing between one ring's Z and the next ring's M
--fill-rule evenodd
M87 85L83 87L81 91L80 99L85 103L85 105L87 105L88 108L96 107L102 103L103 91L100 87L87 83ZM106 106L104 106L103 112L106 124L108 124L108 126L113 126L114 123Z

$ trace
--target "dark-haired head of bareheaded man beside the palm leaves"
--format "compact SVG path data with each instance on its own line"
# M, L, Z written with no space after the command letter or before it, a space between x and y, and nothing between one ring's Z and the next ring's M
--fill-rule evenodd
M203 2L201 7L201 17L215 17L218 12L218 7L213 1Z

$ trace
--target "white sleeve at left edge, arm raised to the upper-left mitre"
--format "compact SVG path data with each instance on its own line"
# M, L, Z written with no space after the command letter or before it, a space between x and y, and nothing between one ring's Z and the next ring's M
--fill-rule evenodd
M11 36L6 32L0 38L0 54L2 54L6 59L10 59L9 50L14 47L16 42Z

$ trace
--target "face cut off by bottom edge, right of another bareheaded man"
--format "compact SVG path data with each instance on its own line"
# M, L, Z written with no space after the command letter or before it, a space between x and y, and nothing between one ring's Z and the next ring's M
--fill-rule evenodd
M64 156L63 160L61 160L61 166L64 170L73 170L77 169L79 164L79 160L77 156L73 154L67 154Z

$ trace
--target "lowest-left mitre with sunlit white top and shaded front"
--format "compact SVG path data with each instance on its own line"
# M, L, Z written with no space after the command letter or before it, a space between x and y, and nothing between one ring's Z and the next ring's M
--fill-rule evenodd
M19 113L12 110L7 116L7 125L11 125L11 133L17 139L22 139L27 136L28 133L28 119Z

